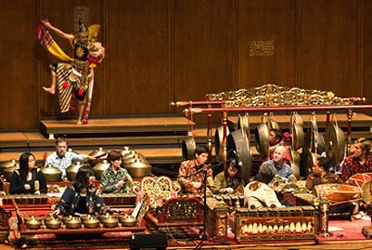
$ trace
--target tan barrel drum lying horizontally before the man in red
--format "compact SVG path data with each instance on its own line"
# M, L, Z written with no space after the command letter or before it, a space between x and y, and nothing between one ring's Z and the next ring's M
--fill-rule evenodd
M314 191L318 198L326 197L331 204L361 198L360 188L354 185L322 184L316 185Z

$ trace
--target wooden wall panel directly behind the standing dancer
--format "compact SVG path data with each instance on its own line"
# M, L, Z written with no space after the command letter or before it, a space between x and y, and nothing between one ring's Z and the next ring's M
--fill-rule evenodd
M102 25L100 34L98 36L98 41L103 43L103 34L106 32L106 28L103 26L103 1L102 0L92 0L92 1L40 1L40 16L38 16L38 22L43 18L47 18L52 25L61 29L65 33L75 34L74 30L74 8L76 6L86 6L89 9L89 25L98 24ZM55 10L58 11L55 11ZM51 32L54 40L64 52L73 57L73 47L64 38L55 35ZM49 70L49 65L52 63L59 63L60 60L55 58L49 52L47 52L41 45L39 46L39 65L40 65L40 75L39 75L39 91L41 92L41 109L40 113L42 117L48 116L62 116L71 117L77 116L76 114L66 113L61 114L60 107L58 105L58 95L50 95L42 90L43 85L50 85L51 75ZM103 59L103 64L105 64L105 59ZM94 69L94 87L93 87L93 101L91 107L91 115L103 115L104 110L104 96L105 96L105 81L103 79L103 66L99 65Z

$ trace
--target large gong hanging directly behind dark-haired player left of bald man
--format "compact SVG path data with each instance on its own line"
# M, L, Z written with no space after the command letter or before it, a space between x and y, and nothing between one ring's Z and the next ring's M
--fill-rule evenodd
M242 163L241 172L244 184L248 184L253 165L252 151L250 150L250 137L240 128L228 135L228 152L235 150Z

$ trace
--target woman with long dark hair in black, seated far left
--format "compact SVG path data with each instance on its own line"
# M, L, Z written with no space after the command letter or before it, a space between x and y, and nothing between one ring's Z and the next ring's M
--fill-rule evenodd
M36 159L31 153L19 157L19 169L10 178L9 193L15 194L46 194L45 176L36 165Z

